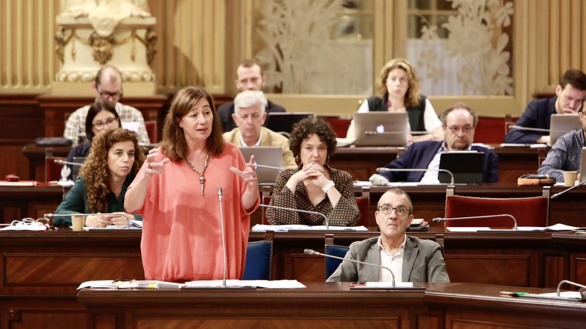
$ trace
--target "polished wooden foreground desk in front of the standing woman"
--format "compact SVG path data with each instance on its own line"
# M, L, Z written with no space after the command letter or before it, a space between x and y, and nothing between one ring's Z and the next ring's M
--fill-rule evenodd
M350 290L349 283L301 289L81 289L88 328L578 328L586 304L501 297L509 286L424 284L426 290ZM527 289L532 293L551 292Z

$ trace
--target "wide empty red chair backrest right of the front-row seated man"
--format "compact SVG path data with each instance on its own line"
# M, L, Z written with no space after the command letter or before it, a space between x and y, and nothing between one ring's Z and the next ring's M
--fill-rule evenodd
M544 227L549 222L549 198L482 198L446 196L445 217L470 217L509 214L519 226ZM445 227L512 227L509 217L478 220L445 221Z

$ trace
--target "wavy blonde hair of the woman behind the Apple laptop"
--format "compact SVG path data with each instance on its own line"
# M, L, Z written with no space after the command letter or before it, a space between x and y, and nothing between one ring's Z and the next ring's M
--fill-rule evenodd
M417 106L419 104L419 98L421 97L419 79L417 78L417 74L415 74L413 66L406 59L397 58L390 60L387 64L384 64L384 67L380 70L379 78L376 80L376 91L379 93L380 97L388 97L389 91L387 90L387 77L389 77L389 72L395 68L401 68L401 70L407 73L409 87L407 88L407 93L405 94L405 106Z

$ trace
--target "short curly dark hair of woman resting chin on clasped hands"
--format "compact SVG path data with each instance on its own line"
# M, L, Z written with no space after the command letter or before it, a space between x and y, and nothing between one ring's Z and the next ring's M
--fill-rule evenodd
M311 135L318 136L319 140L326 143L328 156L332 156L336 152L338 142L336 142L336 133L333 131L332 126L322 119L306 118L293 125L293 131L289 138L289 149L291 149L295 157L301 154L301 142Z

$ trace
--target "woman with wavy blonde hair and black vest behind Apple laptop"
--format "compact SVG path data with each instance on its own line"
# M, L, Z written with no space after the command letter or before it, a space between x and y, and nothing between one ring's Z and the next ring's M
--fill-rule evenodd
M393 59L384 64L376 81L377 94L362 102L358 112L388 111L407 112L407 131L427 131L425 135L411 136L410 142L443 140L441 121L435 114L430 100L421 95L419 79L415 69L406 59ZM349 137L355 135L353 125L348 129Z

